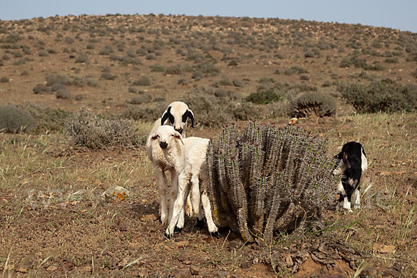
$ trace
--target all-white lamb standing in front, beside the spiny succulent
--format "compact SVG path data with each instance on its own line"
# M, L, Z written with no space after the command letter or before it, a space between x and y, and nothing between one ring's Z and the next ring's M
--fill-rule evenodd
M165 231L165 236L170 237L174 234L176 228L181 229L183 227L181 215L183 214L186 196L190 192L190 183L193 184L193 211L197 215L201 214L199 183L207 181L206 152L210 140L198 137L182 138L181 134L175 131L172 126L159 126L152 134L151 140L152 142L158 142L165 159L171 165L174 165L175 172L179 173L179 191L174 202L170 224ZM208 231L212 236L218 238L218 228L213 222L210 201L205 190L202 193L201 202L206 215Z

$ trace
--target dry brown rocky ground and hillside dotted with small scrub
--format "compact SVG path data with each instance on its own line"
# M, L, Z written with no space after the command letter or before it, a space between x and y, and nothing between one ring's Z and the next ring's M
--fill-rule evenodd
M0 133L3 277L416 277L417 114L357 114L341 93L344 83L415 85L416 40L389 28L283 19L0 21L1 106L17 104L38 122L28 133ZM244 101L263 90L279 97ZM332 97L336 115L296 125L326 138L331 155L343 142L363 144L363 206L325 211L324 231L279 234L269 246L227 229L211 238L193 218L165 239L143 145L92 151L63 133L63 119L85 106L135 120L143 138L170 101L203 96L211 106L190 105L190 135L216 138L228 122L285 126L291 99L311 91ZM110 186L129 197L104 202Z

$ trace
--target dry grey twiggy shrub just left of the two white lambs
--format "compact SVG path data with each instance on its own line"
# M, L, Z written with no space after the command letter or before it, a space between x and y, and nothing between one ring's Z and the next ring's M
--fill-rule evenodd
M65 127L74 145L89 149L130 147L138 143L134 123L130 120L103 119L85 108L70 117Z

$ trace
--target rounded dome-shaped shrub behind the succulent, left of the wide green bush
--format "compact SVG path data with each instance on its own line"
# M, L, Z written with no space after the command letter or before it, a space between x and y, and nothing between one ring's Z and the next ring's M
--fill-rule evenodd
M320 92L306 92L291 101L293 117L333 116L336 113L336 101Z

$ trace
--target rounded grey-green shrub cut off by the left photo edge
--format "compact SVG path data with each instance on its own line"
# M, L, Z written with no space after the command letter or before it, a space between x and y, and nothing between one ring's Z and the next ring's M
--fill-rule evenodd
M0 107L0 132L30 131L35 125L35 119L28 111L15 105Z

